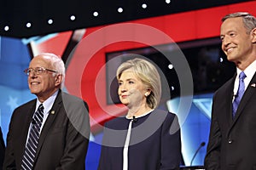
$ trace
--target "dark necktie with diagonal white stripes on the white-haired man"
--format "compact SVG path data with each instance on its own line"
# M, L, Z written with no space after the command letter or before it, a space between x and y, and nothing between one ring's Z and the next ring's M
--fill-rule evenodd
M38 139L40 133L40 127L44 117L44 106L39 105L38 111L32 118L32 128L29 133L29 137L26 143L26 149L21 162L21 170L31 170L35 161L35 156L38 148Z

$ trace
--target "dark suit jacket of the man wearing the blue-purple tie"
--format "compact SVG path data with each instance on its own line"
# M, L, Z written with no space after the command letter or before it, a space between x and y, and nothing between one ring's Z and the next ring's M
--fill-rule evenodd
M256 169L256 75L249 83L232 118L236 75L213 96L212 122L207 145L207 170Z

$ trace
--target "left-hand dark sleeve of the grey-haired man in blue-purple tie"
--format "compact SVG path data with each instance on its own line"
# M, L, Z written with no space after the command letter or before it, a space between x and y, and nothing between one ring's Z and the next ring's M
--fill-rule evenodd
M207 170L219 169L219 156L220 156L220 146L221 146L221 133L217 119L217 113L215 113L215 100L216 95L213 97L212 102L212 122L211 130L209 135L209 140L207 144L207 155L205 157L205 167Z

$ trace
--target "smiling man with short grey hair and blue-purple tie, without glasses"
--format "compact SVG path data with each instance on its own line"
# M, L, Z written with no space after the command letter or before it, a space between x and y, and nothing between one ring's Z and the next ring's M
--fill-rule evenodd
M222 21L222 49L227 59L236 64L236 74L213 96L205 167L253 170L256 169L256 19L251 14L235 13L224 16ZM239 80L241 72L244 76ZM237 110L232 106L235 104Z

